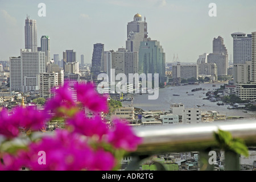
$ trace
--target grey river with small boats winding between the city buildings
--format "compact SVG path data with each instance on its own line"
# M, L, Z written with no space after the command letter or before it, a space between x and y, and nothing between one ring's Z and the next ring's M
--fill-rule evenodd
M256 118L256 111L247 111L238 109L227 109L229 105L218 106L217 102L210 102L209 100L203 100L205 94L208 91L213 91L220 88L221 85L227 84L227 82L216 82L213 87L212 83L205 83L200 85L181 85L170 86L159 89L159 97L157 100L148 100L148 94L133 94L133 106L141 108L143 110L170 110L170 105L174 103L182 103L185 108L198 108L202 111L217 111L219 114L224 114L227 117L244 117L244 118ZM202 88L205 90L199 90L191 92L192 89ZM188 93L187 93L188 92ZM173 96L173 94L179 94L180 96ZM188 94L194 94L188 96ZM127 98L130 96L127 96ZM131 106L131 102L123 101L123 106ZM198 106L197 106L198 105Z

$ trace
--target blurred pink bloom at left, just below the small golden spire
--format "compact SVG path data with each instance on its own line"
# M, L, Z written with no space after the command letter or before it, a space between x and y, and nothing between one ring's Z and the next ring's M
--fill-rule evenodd
M39 111L35 107L16 107L11 116L13 121L19 122L20 127L32 131L42 129L47 118L44 111Z

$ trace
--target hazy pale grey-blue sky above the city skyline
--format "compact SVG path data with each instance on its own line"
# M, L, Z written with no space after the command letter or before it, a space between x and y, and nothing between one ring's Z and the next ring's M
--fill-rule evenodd
M46 4L46 17L38 16L39 3ZM217 17L208 15L209 3L216 3ZM42 35L51 39L51 59L75 49L78 61L84 54L91 63L95 43L105 44L105 51L125 47L127 23L137 13L146 16L148 36L160 42L167 62L174 54L181 62L196 62L212 52L212 40L219 35L230 59L230 34L256 31L255 7L255 0L0 0L0 60L20 55L27 14L36 19L38 47Z

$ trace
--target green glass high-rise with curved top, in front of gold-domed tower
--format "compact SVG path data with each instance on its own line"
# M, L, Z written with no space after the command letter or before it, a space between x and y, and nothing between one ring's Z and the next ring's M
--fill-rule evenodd
M139 74L159 74L159 82L166 81L166 53L156 40L147 39L139 47Z

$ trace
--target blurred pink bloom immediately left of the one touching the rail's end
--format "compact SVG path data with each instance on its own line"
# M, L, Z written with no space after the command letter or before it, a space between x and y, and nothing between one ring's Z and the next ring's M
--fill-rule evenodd
M108 133L106 124L101 121L100 117L95 117L93 119L85 118L82 111L76 113L74 117L67 119L67 125L72 127L73 132L88 137L97 135L99 139L101 139L103 135Z

